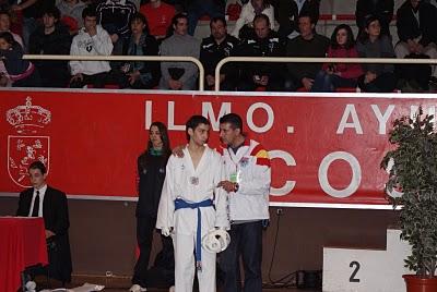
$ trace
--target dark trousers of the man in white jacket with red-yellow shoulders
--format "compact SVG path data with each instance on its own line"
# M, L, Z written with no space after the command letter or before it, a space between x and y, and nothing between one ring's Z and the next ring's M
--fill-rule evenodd
M262 222L233 224L231 243L220 254L220 267L224 273L224 292L262 292ZM239 257L243 257L245 285L241 290Z

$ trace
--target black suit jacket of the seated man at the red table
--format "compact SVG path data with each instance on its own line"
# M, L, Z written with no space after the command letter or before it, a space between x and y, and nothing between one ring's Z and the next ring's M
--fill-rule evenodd
M20 194L19 209L16 216L28 216L34 188L27 188ZM63 282L71 281L71 254L68 229L70 227L67 196L64 193L47 186L43 202L44 224L47 230L56 235L48 239L50 278Z

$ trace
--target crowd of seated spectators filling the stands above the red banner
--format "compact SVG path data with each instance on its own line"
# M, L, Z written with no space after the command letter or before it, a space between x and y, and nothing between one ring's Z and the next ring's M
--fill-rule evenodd
M143 0L142 0L143 1ZM394 44L389 25L393 0L357 0L355 37L340 24L330 38L317 33L320 0L243 1L227 32L221 0L24 0L0 10L0 86L196 89L190 62L34 61L33 54L182 56L200 59L205 87L213 89L215 66L226 57L437 58L437 9L405 0L398 9ZM165 1L165 2L163 2ZM202 15L211 36L194 34ZM11 32L11 16L16 19ZM15 23L15 24L16 24ZM429 65L351 63L229 63L221 72L224 90L425 92L436 84Z

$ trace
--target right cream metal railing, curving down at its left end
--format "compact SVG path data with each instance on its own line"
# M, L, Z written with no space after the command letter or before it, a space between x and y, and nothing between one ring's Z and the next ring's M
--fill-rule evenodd
M220 70L228 62L264 63L370 63L370 64L437 64L437 59L397 58L294 58L294 57L227 57L215 66L215 92L220 92Z

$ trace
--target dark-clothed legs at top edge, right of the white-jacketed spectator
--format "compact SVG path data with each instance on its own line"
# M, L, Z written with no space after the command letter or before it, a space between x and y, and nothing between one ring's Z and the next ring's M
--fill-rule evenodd
M277 33L290 39L299 35L298 19L300 14L310 15L314 24L319 21L320 0L274 0L274 14L280 24Z

